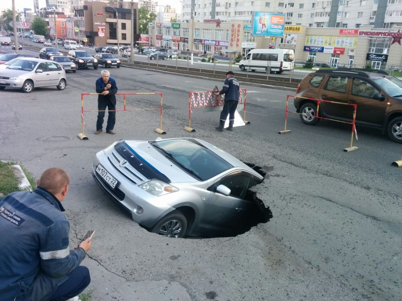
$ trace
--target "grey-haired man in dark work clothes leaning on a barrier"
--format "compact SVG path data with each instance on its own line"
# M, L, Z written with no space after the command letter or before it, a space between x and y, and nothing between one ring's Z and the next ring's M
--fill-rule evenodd
M107 125L106 132L108 134L116 134L113 131L116 123L116 96L117 85L116 81L110 77L110 73L107 70L102 70L100 76L96 80L96 93L98 95L98 120L96 120L96 132L100 134L103 132L103 118L105 117L105 110L107 107Z

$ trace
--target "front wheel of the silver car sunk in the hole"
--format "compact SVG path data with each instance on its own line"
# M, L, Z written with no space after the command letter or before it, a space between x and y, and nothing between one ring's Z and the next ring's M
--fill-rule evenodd
M166 237L183 238L187 231L187 219L180 211L173 211L164 216L151 232Z

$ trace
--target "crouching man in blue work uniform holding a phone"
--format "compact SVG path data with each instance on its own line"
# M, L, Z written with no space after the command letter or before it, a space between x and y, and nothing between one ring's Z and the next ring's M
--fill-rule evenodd
M70 178L47 169L35 191L13 192L0 200L0 299L78 301L90 283L80 266L91 238L70 250L70 224L62 213Z

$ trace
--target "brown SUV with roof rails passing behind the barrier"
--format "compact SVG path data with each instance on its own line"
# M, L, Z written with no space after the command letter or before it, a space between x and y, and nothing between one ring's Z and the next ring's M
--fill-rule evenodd
M318 70L301 80L294 105L305 124L316 124L317 101L356 104L356 124L381 128L402 143L402 81L382 70ZM320 102L318 116L351 122L353 106Z

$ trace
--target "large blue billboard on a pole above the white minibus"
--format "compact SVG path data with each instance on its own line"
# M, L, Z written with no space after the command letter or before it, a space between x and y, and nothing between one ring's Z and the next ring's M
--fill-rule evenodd
M285 14L254 12L252 35L263 37L282 37L285 29Z

